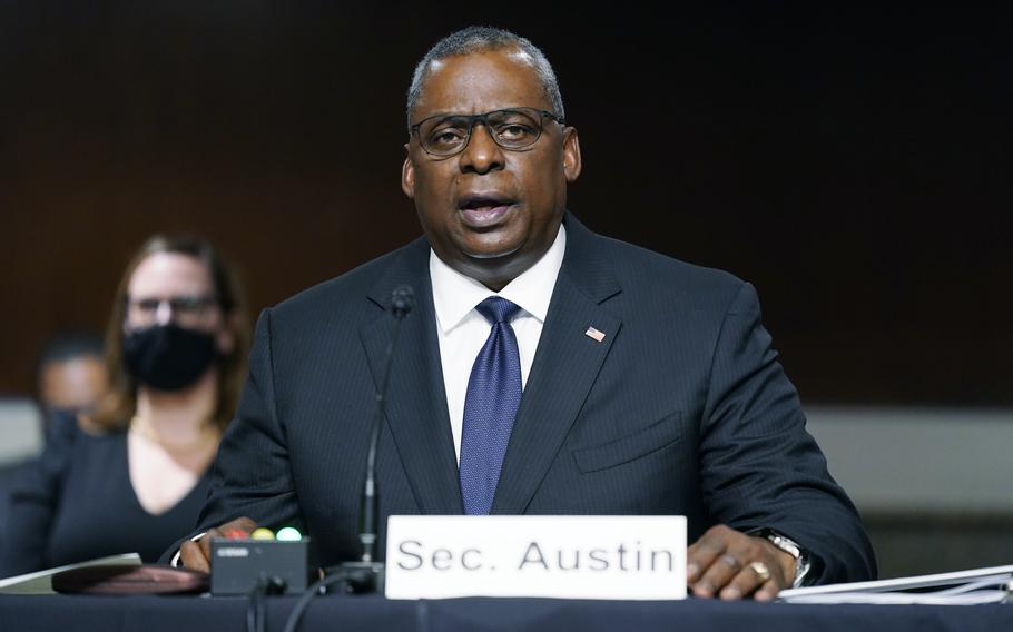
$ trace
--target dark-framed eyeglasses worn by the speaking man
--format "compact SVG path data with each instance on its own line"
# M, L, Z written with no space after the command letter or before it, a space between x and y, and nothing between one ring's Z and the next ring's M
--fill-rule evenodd
M565 125L562 117L535 108L510 108L484 115L436 115L414 124L410 129L419 136L426 154L449 157L464 151L475 124L482 124L493 141L503 149L524 149L542 135L542 119Z

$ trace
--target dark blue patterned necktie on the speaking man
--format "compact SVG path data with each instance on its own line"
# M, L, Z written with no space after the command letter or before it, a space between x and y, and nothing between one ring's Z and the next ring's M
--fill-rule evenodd
M475 309L492 323L492 332L468 381L459 470L464 513L485 515L492 508L513 418L521 405L521 358L510 326L520 307L490 296Z

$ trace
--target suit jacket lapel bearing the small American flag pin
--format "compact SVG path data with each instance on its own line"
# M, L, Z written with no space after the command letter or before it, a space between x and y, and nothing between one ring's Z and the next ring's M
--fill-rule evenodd
M567 254L503 460L492 513L523 513L577 419L622 325L600 304L621 292L591 234L567 216ZM587 332L593 327L599 342Z

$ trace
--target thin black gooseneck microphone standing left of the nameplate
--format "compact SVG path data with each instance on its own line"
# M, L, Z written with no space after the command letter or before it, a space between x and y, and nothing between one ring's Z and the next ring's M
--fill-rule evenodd
M383 590L384 564L376 561L376 533L380 522L380 496L376 486L376 452L380 447L380 433L386 414L387 384L391 378L394 348L401 334L401 323L415 306L415 293L403 285L391 295L391 313L394 316L391 343L384 356L383 374L376 392L376 414L370 432L370 450L366 454L366 476L362 487L362 500L358 513L358 541L362 555L354 562L337 565L336 574L344 576L346 592L368 593ZM335 577L335 582L342 580Z

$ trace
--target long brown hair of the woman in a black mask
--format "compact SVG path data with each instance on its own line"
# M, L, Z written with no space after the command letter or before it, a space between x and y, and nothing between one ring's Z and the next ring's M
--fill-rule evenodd
M236 412L243 381L246 378L246 357L249 353L250 326L246 297L235 271L222 259L212 245L198 237L155 235L130 259L112 299L112 314L106 328L106 371L109 394L89 419L97 429L125 429L137 409L137 379L124 362L124 323L130 277L146 258L157 253L188 255L207 266L215 286L215 297L224 316L224 326L233 329L236 342L227 354L216 358L218 386L215 402L215 425L224 431Z

